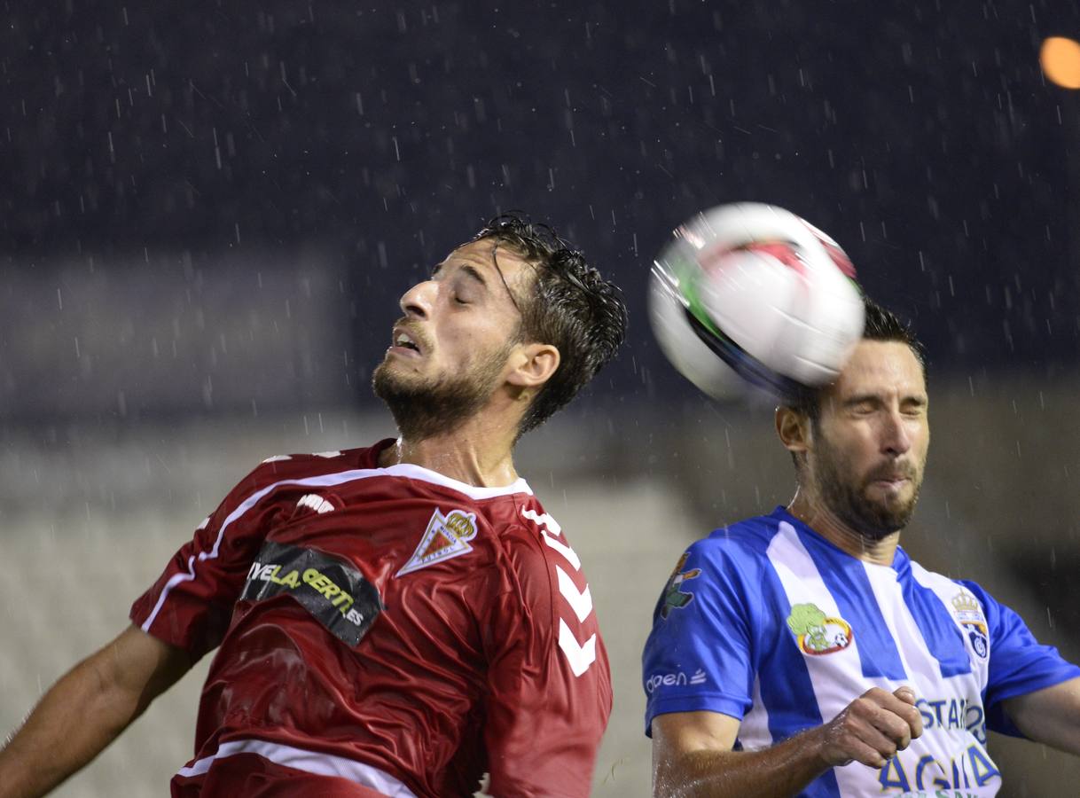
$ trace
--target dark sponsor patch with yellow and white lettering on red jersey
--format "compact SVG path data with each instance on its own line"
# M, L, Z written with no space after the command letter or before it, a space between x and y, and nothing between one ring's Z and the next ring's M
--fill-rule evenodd
M345 560L314 549L267 542L240 594L261 601L287 594L342 643L355 646L384 609L378 589Z

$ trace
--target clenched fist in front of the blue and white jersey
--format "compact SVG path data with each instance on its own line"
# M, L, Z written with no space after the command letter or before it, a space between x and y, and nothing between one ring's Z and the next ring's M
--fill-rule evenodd
M888 693L874 687L821 728L821 757L829 767L856 761L883 768L922 734L922 716L915 708L912 688Z

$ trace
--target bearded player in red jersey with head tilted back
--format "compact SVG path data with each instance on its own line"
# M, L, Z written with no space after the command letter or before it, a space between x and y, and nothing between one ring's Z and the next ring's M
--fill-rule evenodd
M401 436L270 458L0 754L43 795L217 648L174 796L586 796L611 707L581 562L512 459L625 333L565 242L494 219L401 300Z

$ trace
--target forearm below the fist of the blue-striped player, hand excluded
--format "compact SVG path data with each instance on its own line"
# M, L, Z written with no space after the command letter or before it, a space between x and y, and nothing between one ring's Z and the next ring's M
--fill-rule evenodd
M828 765L822 758L819 729L796 734L759 750L694 750L657 767L657 798L784 798L796 795Z

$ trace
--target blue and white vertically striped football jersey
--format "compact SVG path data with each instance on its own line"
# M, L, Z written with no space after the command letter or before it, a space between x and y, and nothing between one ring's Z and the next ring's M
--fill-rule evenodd
M1002 701L1080 676L973 582L896 550L892 566L840 551L778 508L714 531L679 559L643 657L645 729L674 712L742 721L759 748L834 718L872 687L907 685L923 733L879 770L834 768L802 796L993 796L986 729L1018 735Z

